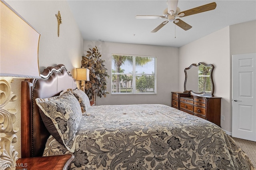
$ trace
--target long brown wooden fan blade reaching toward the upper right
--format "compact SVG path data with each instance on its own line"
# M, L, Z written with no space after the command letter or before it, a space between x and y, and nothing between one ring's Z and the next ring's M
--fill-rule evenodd
M196 8L192 8L190 10L186 10L186 11L182 11L181 13L184 13L184 16L189 16L189 15L193 15L193 14L198 14L200 12L206 12L206 11L210 11L210 10L214 10L216 8L217 4L215 2L212 2L210 4L206 4L203 6L198 6ZM178 14L178 15L179 15ZM184 17L184 16L180 16L180 17Z

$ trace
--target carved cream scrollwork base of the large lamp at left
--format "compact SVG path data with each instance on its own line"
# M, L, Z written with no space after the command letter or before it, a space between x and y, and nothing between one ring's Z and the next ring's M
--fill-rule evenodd
M11 91L12 81L10 77L0 77L0 170L15 170L18 160L18 152L12 146L17 142L16 132L19 130L13 127L17 109L4 108L9 102L17 100L17 96Z

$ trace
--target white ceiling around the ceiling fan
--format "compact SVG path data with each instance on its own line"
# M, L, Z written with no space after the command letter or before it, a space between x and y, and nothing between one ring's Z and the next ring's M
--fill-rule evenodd
M256 0L179 0L178 7L184 11L211 2L215 10L180 18L190 30L169 22L151 33L164 19L135 16L162 15L166 0L68 0L84 40L181 47L226 26L256 20Z

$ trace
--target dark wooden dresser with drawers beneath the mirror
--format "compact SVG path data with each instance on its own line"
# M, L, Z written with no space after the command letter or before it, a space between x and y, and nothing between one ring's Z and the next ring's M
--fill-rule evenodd
M220 126L220 101L221 97L204 95L190 95L184 92L172 92L171 106L206 119Z

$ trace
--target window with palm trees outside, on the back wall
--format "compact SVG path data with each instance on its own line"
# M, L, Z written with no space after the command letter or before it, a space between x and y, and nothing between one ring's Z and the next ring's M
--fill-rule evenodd
M156 57L112 54L112 94L156 94Z

